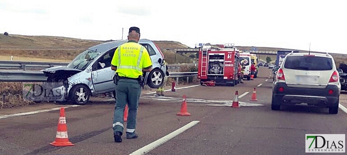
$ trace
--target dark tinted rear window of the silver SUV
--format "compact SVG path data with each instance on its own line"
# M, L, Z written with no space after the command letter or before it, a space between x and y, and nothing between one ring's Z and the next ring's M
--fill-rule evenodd
M288 56L284 67L293 70L327 71L332 70L332 60L319 56Z

